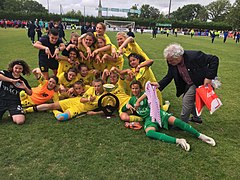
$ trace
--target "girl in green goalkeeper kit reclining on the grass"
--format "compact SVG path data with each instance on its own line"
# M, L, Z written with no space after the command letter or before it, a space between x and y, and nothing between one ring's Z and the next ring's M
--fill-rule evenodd
M179 139L157 132L161 128L161 126L164 129L168 129L169 125L170 126L174 125L184 131L193 134L195 137L199 138L203 142L206 142L212 146L216 145L214 139L212 139L211 137L199 133L189 124L183 122L180 119L177 119L176 117L172 116L171 114L161 109L160 109L161 126L158 122L152 122L147 95L141 92L142 89L141 86L142 85L139 81L133 81L131 83L132 97L129 100L129 102L122 108L122 111L127 112L128 110L130 110L143 118L146 136L168 143L179 144L185 151L189 151L190 145L187 143L185 139Z

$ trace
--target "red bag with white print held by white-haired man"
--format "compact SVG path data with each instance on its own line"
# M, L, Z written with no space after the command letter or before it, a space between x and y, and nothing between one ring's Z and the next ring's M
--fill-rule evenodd
M206 105L210 111L210 114L212 114L222 105L221 100L213 91L213 88L210 84L207 86L202 85L196 88L196 112L198 116L201 115L204 105Z

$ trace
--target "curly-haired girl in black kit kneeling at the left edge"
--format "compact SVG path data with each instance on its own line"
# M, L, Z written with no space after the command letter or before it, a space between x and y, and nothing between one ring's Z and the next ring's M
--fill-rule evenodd
M20 91L24 90L28 95L32 94L31 87L21 74L30 74L30 68L23 60L12 61L8 70L0 71L0 119L8 110L16 124L25 122L19 97Z

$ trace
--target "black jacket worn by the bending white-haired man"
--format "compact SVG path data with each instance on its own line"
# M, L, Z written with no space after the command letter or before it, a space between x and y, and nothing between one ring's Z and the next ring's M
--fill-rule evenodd
M204 79L214 79L217 76L219 59L217 56L205 54L201 51L184 51L184 64L189 76L197 87L204 83ZM177 66L168 64L167 75L159 81L159 89L162 91L174 79L177 97L188 90L187 83L182 79Z

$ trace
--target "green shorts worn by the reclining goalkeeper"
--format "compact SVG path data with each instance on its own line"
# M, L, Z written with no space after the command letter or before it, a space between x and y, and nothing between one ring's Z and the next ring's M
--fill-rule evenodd
M172 115L160 109L160 116L161 116L162 128L168 129L168 119ZM156 131L159 130L160 128L159 124L157 122L152 122L152 118L150 116L144 118L143 120L145 121L144 130L146 130L148 127L154 127Z

